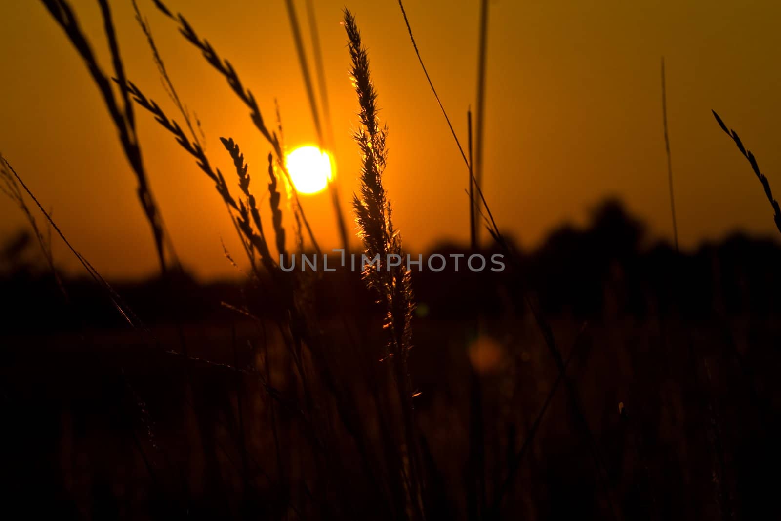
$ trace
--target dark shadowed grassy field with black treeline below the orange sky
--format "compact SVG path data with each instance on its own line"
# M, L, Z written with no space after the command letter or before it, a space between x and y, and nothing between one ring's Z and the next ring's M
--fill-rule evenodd
M523 308L517 273L413 273L409 371L430 512L775 511L781 284L772 266L781 250L740 236L679 262L663 245L640 248L639 235L630 247L584 248L633 223L614 215L558 230L520 255L565 380ZM577 262L560 271L549 258ZM655 278L665 262L678 278L669 277L676 269ZM370 347L380 314L357 277L315 283L326 341L323 360L303 357L307 398L273 317L219 305L243 298L236 284L119 284L131 308L146 310L151 331L142 333L123 327L95 287L66 282L66 305L34 273L17 265L2 290L16 302L2 340L6 505L58 519L403 515L387 454L398 413L386 403L387 362ZM91 323L74 327L73 316Z

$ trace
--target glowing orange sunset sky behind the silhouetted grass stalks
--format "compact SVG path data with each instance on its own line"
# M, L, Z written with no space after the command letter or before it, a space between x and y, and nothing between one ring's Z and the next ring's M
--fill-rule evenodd
M96 2L71 3L109 71ZM201 0L167 3L233 62L266 119L273 120L273 98L279 99L289 147L316 141L282 0L226 1L219 9ZM350 140L356 102L339 24L345 2L315 3L337 179L347 202L357 186L358 154ZM234 137L250 173L265 187L269 146L251 127L247 109L152 2L139 4L180 97L201 120L210 161L233 180L219 137ZM175 116L130 0L111 5L128 76ZM369 47L380 116L390 127L385 183L405 246L420 252L441 238L465 241L465 167L398 5L347 5ZM305 23L304 2L297 7ZM466 108L475 104L479 2L408 0L405 7L465 141ZM736 228L775 236L758 180L710 109L738 131L781 193L779 19L779 2L490 2L485 194L500 227L533 246L552 226L580 221L591 205L617 194L654 236L671 237L659 78L665 55L683 246ZM2 2L0 20L0 151L102 274L154 273L136 181L84 63L40 2ZM180 259L201 277L234 274L220 237L237 257L240 246L212 183L151 116L136 113L144 164ZM306 196L303 204L319 241L336 245L327 194ZM287 214L285 219L289 226ZM21 226L20 212L7 201L0 204L0 237ZM75 269L77 262L59 244L55 256Z

